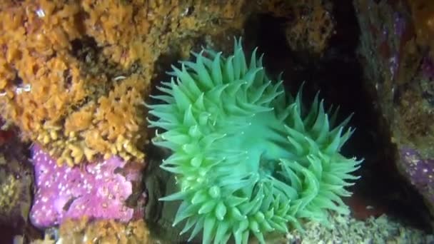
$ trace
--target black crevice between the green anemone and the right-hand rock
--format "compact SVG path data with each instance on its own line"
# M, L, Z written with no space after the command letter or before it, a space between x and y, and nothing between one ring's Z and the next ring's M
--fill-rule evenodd
M356 172L360 180L350 190L390 217L429 230L428 209L420 194L398 173L389 126L373 106L378 99L370 95L363 80L363 67L356 56L360 29L351 1L336 3L333 16L336 34L321 57L303 57L291 51L284 33L286 19L266 14L247 21L248 49L258 46L260 53L265 53L264 66L271 77L283 71L288 92L296 93L304 81L306 103L321 91L325 106L340 106L338 121L354 113L349 126L356 131L342 153L365 161Z

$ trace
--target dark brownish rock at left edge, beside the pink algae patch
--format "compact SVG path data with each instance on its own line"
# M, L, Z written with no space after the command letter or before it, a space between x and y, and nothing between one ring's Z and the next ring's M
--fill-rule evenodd
M24 240L39 235L28 220L33 171L26 152L14 128L0 129L0 240L4 243L12 243L14 235Z

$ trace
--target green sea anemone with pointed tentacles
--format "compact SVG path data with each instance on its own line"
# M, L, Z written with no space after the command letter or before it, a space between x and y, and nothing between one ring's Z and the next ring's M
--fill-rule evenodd
M301 91L286 95L268 78L256 49L250 63L235 41L233 55L203 49L196 61L172 66L149 105L163 128L153 143L173 151L161 168L176 175L179 191L161 200L180 200L173 225L203 243L247 243L300 221L325 222L328 210L349 213L341 197L361 161L339 151L353 130L350 117L335 126L337 110L325 113L318 94L306 109ZM301 89L300 89L301 90Z

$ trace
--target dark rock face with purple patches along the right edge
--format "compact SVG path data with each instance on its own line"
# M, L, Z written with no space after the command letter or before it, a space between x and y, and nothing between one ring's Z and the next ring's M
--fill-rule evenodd
M365 82L395 163L434 208L433 1L353 1ZM434 212L432 212L434 213Z

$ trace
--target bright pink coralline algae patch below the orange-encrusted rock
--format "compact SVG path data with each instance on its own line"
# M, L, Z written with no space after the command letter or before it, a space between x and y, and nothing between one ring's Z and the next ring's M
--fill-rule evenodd
M34 146L32 159L36 194L30 219L36 227L48 228L68 218L85 216L128 222L140 212L126 205L134 185L141 181L140 171L126 169L126 162L121 158L113 156L81 168L70 168L57 166L54 158ZM143 200L144 196L141 197Z

